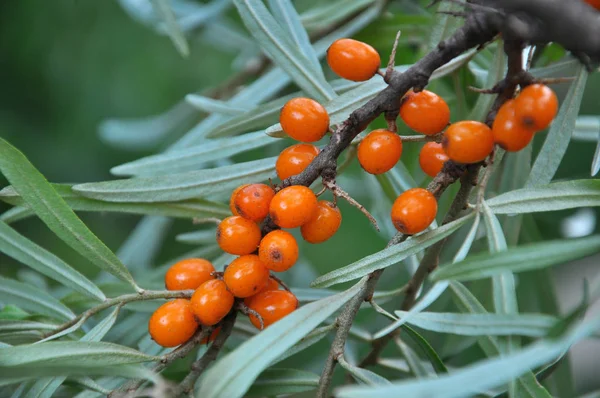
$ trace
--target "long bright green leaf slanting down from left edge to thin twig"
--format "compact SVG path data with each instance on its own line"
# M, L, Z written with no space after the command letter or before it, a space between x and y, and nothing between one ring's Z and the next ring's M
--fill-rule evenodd
M140 289L117 256L81 222L44 176L3 139L0 139L0 170L59 238L99 268Z

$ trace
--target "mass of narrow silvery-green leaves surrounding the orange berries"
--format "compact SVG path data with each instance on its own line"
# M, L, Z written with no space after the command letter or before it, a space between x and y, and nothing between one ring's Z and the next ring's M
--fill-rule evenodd
M589 147L594 141L600 148L600 115L585 114L597 101L587 98L597 82L584 65L554 45L536 48L532 76L574 77L557 86L561 107L549 131L536 135L533 150L499 149L474 194L466 192L464 211L449 222L438 217L414 237L394 236L389 209L400 193L431 181L418 166L420 144L410 142L423 140L398 126L407 141L402 160L376 178L359 169L356 143L350 144L339 159L337 183L374 215L381 232L341 203L338 236L320 246L304 243L299 264L283 277L302 303L298 310L259 333L230 314L208 348L199 347L207 337L202 331L179 348L164 349L148 336L149 315L158 300L190 296L158 290L165 270L191 256L210 259L217 270L231 261L215 245L210 220L228 216L237 186L275 178L274 156L288 143L278 124L281 106L309 96L325 106L333 125L342 125L387 89L378 75L362 83L336 79L323 62L329 44L357 37L389 54L402 30L394 68L400 75L462 19L407 1L118 3L153 31L145 32L150 40L168 37L174 48L163 51L194 59L196 69L213 53L229 52L220 66L230 76L220 84L206 78L200 91L190 83L159 115L100 123L105 145L129 151L115 155L120 164L110 172L116 179L50 183L26 157L26 142L0 138L0 174L8 182L0 190L7 204L0 214L0 261L12 265L0 276L1 396L91 397L140 386L158 396L186 389L199 397L314 396L324 379L339 397L583 392L575 390L565 353L597 337L600 318L583 314L598 299L600 279L595 275L584 293L571 292L582 304L561 312L548 272L600 253L598 228L560 232L579 209L593 209L586 214L595 223L600 206L600 181L581 172L591 165L593 177L600 168L600 150L594 154ZM435 7L448 12L459 6ZM206 58L194 58L196 41ZM502 80L504 51L496 39L433 72L427 87L447 100L453 121L486 119L495 97L467 87L490 88ZM382 119L367 131L386 126ZM90 178L99 179L106 178ZM452 213L454 198L463 193L448 185L438 214ZM98 224L88 213L141 218L128 237L116 224L96 235ZM36 242L35 220L53 240ZM439 267L421 275L419 263L431 253ZM401 306L398 298L411 294L412 302Z

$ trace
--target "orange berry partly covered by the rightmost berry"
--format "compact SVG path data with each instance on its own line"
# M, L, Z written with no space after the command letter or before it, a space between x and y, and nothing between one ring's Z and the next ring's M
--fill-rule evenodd
M534 131L515 117L515 101L509 100L498 110L492 125L494 142L509 152L520 151L533 139Z

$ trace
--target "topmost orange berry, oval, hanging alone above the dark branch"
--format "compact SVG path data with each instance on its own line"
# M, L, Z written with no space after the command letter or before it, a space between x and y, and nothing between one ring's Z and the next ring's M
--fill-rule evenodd
M381 64L379 53L362 41L339 39L327 49L327 63L338 76L362 82L372 78Z

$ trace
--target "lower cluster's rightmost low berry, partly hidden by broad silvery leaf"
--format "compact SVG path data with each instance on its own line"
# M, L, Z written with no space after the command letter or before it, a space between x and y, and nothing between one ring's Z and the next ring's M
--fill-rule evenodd
M298 308L298 299L287 290L269 290L252 297L248 308L256 311L261 316L264 327L267 327ZM250 322L260 329L257 317L250 315Z

